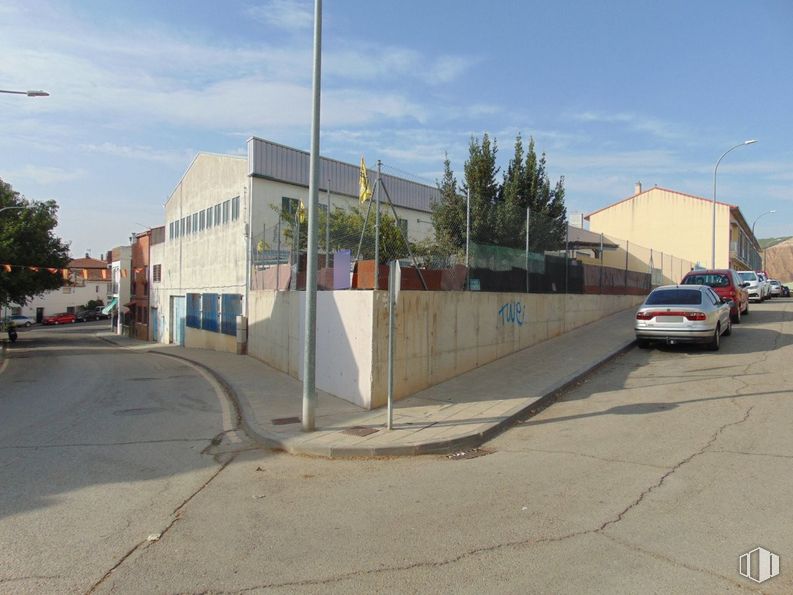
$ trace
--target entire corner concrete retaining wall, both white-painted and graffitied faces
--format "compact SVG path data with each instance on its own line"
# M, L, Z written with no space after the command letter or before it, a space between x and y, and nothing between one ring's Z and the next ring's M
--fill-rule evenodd
M403 291L398 399L641 302L639 296ZM303 292L251 292L248 353L302 378ZM386 401L387 293L317 294L317 388L371 409Z

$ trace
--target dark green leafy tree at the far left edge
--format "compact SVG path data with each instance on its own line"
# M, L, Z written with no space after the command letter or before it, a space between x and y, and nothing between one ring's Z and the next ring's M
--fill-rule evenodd
M12 265L10 272L0 267L0 305L26 304L40 293L61 287L60 272L47 269L68 266L69 246L53 233L58 223L55 201L28 201L0 179L0 209L4 207L24 208L0 212L0 264Z

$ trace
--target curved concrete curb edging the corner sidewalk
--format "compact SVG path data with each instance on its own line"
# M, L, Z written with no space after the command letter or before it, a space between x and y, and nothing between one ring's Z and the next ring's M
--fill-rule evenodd
M125 348L124 345L116 343L105 337L97 338L115 345L119 348ZM572 388L575 384L581 382L587 376L593 374L602 366L606 365L613 359L630 351L636 345L636 340L631 339L619 348L615 349L607 356L601 358L599 361L593 363L584 369L579 369L570 374L568 377L561 379L555 386L551 387L545 394L540 395L537 399L526 403L518 410L505 417L503 420L494 423L492 426L481 432L471 432L455 438L447 440L435 440L425 442L423 444L413 445L400 445L400 446L312 446L308 444L293 444L291 440L283 440L280 436L272 436L262 432L259 428L251 424L250 419L253 418L253 413L247 405L246 399L241 399L232 385L220 374L218 371L208 367L207 365L197 362L184 355L176 355L174 353L167 353L160 351L156 348L147 349L144 353L155 353L166 357L172 357L177 360L183 360L193 365L200 367L211 375L217 383L222 387L224 393L232 403L237 415L238 427L241 428L250 438L253 439L260 446L281 450L293 455L307 455L312 457L322 457L329 459L342 459L342 458L373 458L373 457L404 457L404 456L417 456L428 454L451 454L460 450L467 450L481 446L496 436L502 434L516 423L523 421L530 417L532 414L539 410L545 409L552 405L559 396L565 391Z

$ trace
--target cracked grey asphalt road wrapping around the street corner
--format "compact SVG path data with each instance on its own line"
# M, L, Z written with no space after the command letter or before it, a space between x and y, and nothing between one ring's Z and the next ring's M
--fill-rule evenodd
M194 370L79 341L0 374L0 591L793 592L791 300L718 353L634 349L467 460L201 455Z

